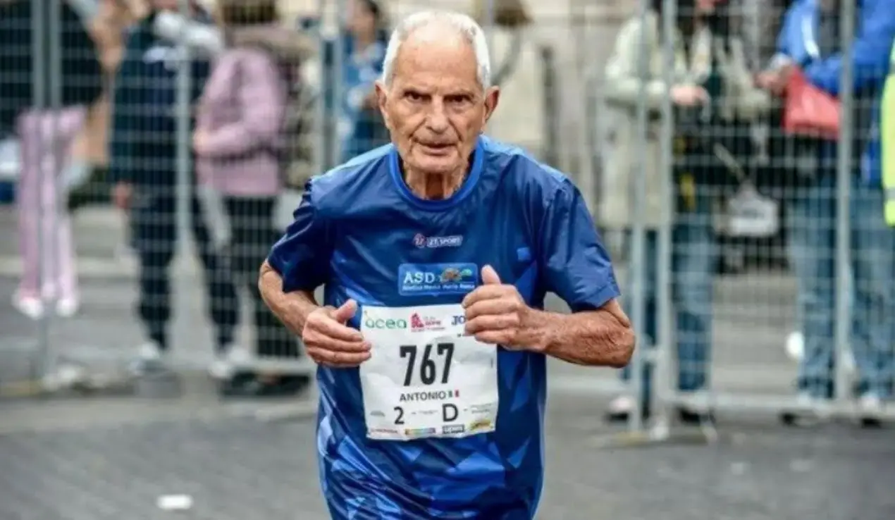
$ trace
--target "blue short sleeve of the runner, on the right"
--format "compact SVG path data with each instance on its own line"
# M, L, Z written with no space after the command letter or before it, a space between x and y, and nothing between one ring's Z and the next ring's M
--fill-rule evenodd
M618 297L618 283L581 193L565 183L544 208L541 276L572 309L592 311Z

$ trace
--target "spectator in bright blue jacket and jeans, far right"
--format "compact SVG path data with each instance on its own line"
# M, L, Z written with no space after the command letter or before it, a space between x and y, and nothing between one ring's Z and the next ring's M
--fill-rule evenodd
M858 394L866 423L878 423L892 396L895 364L891 319L895 316L895 232L883 219L880 183L879 103L889 72L895 11L890 0L857 0L851 54L843 52L840 2L799 0L785 15L779 54L760 83L781 93L789 73L840 96L844 62L851 60L854 103L850 207L851 266L855 285L851 339L860 372ZM815 141L797 158L804 187L788 203L789 240L798 282L805 355L798 373L800 399L809 404L833 395L837 141Z

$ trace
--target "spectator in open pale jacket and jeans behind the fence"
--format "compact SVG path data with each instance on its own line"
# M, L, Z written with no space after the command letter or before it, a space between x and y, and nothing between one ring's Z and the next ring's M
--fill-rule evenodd
M675 164L672 172L661 168L659 111L670 96L681 120L690 120L702 134L734 133L734 122L748 120L767 106L767 97L753 87L746 70L742 42L729 30L729 13L712 0L678 1L674 82L663 81L662 6L652 3L645 18L626 22L618 35L615 51L607 64L605 96L609 104L622 109L615 126L615 146L610 150L606 171L607 186L601 224L630 228L631 197L637 187L637 154L645 154L645 201L641 209L647 227L644 252L644 341L654 343L658 333L656 285L658 270L657 230L673 219L673 303L677 313L678 389L694 392L704 388L709 357L712 319L712 275L717 252L712 229L712 188L730 183L729 174L711 160L711 151L691 133L675 136ZM645 34L644 34L645 31ZM638 72L640 42L645 41L647 76ZM645 149L636 128L636 107L647 103L649 128ZM683 124L679 124L683 127ZM672 175L669 175L672 174ZM663 199L663 186L674 201ZM717 191L717 190L715 190ZM629 277L630 279L630 274ZM627 300L630 304L630 300ZM624 377L629 377L625 371ZM652 370L644 373L644 410L648 413ZM624 420L635 405L635 396L618 396L609 407L610 420ZM678 411L685 422L699 417L686 409Z

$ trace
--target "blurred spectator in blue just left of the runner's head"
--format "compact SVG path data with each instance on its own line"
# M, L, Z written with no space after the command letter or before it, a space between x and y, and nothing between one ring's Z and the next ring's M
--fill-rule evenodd
M324 92L330 116L335 121L339 142L337 163L345 162L366 151L388 144L388 130L377 107L374 83L382 73L388 45L388 17L382 0L349 0L344 27L336 41L328 40L324 47ZM305 19L309 28L319 23ZM341 50L342 55L337 56ZM340 70L337 70L340 68ZM339 81L339 89L335 85ZM335 99L338 91L341 98ZM337 118L331 114L340 107Z

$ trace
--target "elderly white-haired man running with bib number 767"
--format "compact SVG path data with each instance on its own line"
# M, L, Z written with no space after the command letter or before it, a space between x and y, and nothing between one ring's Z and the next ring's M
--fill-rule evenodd
M376 92L393 144L314 178L260 274L320 363L330 513L531 519L547 356L634 349L612 266L575 186L482 136L499 90L469 17L406 18ZM547 292L572 313L541 311Z

